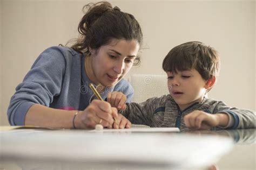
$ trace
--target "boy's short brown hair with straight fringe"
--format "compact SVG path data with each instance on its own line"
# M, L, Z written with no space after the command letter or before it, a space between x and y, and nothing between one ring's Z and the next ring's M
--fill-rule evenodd
M163 61L165 72L196 69L204 80L219 75L220 59L218 52L203 42L190 41L171 49Z

